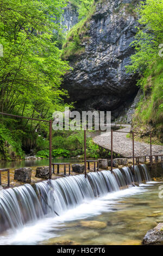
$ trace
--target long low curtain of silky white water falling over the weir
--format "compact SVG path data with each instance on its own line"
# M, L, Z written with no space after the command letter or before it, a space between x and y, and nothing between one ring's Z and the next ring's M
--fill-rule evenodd
M151 180L145 164L140 169L135 166L135 175L129 167L123 167L114 169L113 173L109 170L90 172L87 179L79 174L3 190L0 192L0 232L61 215L84 200L134 186L134 182L141 184L143 180Z

